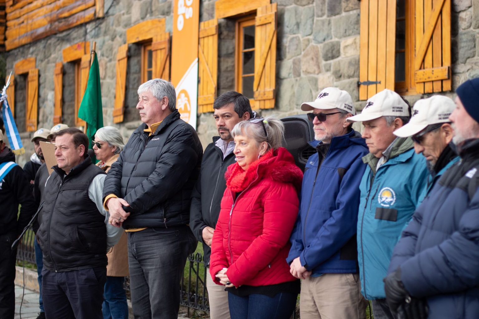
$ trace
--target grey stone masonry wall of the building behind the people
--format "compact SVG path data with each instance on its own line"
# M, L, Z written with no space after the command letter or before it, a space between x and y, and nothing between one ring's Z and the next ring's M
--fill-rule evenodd
M302 102L313 101L319 91L335 86L348 91L360 111L359 101L359 30L360 1L358 0L272 0L278 3L276 105L262 111L263 116L279 118L302 113ZM6 52L7 74L16 62L36 57L39 68L38 127L53 126L55 63L62 61L62 50L82 41L96 41L102 83L104 125L113 124L115 63L119 46L126 43L126 29L153 18L166 18L166 31L172 33L172 0L105 0L105 17L67 30L61 34L21 46ZM203 0L200 21L215 17L215 1ZM218 94L235 88L235 23L221 19L218 40ZM453 0L452 10L452 74L453 90L468 79L479 77L479 0ZM126 139L140 124L135 110L137 86L140 83L138 47L130 46L125 122L117 126ZM70 73L67 75L66 73ZM64 116L73 122L71 111L71 69L64 67ZM21 106L20 86L17 86L16 107ZM24 88L23 88L24 92ZM441 94L454 97L454 92ZM414 103L430 94L407 96ZM68 100L69 99L69 100ZM23 99L24 100L24 99ZM23 102L24 103L24 102ZM198 116L197 131L206 147L217 134L212 113ZM356 129L360 126L356 124ZM26 154L18 157L23 165L33 153L30 142L33 133L21 133Z

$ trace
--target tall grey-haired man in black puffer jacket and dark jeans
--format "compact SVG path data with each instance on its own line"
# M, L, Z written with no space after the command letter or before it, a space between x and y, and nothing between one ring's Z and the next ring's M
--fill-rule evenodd
M188 223L203 148L180 119L170 82L149 80L138 96L144 124L108 172L103 204L112 224L128 233L135 318L176 319L183 268L197 244Z

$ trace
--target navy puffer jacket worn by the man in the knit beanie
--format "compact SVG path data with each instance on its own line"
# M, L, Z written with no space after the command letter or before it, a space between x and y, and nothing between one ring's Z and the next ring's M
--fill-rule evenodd
M389 273L414 297L425 297L429 318L479 318L479 140L447 170L416 209L396 245Z

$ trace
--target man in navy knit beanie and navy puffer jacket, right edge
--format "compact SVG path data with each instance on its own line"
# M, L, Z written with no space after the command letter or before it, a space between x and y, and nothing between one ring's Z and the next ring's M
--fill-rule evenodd
M479 79L466 81L456 93L449 119L461 160L414 213L385 280L391 309L412 308L415 318L479 318ZM421 300L428 315L412 307Z

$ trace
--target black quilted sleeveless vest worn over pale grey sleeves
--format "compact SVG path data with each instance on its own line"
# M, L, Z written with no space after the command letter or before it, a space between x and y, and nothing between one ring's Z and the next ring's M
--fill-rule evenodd
M88 194L95 176L104 173L90 157L68 175L54 166L46 183L37 231L43 264L49 271L106 267L105 216Z

